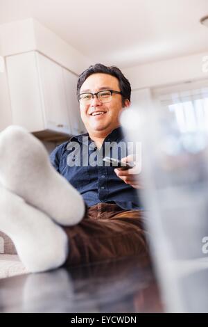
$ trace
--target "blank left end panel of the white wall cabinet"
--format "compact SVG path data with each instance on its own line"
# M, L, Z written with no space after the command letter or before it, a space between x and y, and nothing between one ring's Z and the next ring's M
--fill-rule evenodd
M35 52L7 57L6 67L12 109L11 123L26 127L28 131L44 129Z

